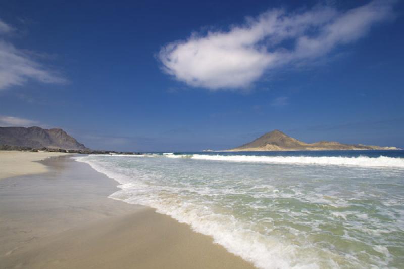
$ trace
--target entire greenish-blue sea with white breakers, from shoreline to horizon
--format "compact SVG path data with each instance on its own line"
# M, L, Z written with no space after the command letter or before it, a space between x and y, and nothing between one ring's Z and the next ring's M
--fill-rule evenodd
M404 151L76 157L259 268L404 268Z

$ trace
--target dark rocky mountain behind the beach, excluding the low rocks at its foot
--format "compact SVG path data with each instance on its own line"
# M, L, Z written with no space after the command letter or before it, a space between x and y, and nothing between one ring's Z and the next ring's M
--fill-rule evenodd
M0 145L49 148L65 150L88 150L62 129L42 129L37 126L0 127Z

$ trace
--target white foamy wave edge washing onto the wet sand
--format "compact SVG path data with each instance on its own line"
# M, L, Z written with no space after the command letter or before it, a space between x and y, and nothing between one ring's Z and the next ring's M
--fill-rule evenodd
M179 156L179 155L168 155ZM229 252L253 263L258 268L319 268L317 257L300 258L299 262L292 262L298 255L299 246L280 242L277 238L267 237L251 230L250 223L243 223L232 215L220 214L211 208L181 201L175 192L167 193L152 186L145 185L113 167L105 167L88 157L74 158L76 161L89 164L93 169L101 172L120 183L121 190L109 198L124 201L129 204L140 204L157 209L156 212L173 217L179 222L187 223L191 228L201 234L212 236L214 242L224 246ZM137 173L132 168L132 172ZM144 177L137 174L136 177ZM165 189L166 190L166 189ZM162 192L163 191L163 192ZM164 193L164 194L161 194ZM330 267L334 264L330 259ZM295 264L292 264L295 263Z

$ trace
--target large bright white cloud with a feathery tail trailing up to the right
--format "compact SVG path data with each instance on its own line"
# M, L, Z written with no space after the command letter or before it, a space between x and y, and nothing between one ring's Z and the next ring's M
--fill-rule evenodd
M269 10L227 31L192 34L159 52L166 73L193 87L247 88L269 70L313 61L363 37L387 20L394 1L374 0L348 11L316 6L299 13Z

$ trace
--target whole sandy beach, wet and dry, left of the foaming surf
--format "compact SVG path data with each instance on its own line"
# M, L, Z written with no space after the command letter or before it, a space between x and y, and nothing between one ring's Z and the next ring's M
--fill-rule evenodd
M252 268L186 224L107 198L117 183L87 164L0 154L0 268Z

